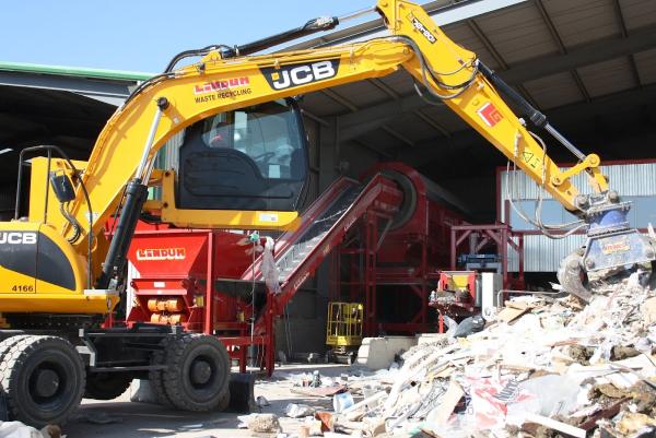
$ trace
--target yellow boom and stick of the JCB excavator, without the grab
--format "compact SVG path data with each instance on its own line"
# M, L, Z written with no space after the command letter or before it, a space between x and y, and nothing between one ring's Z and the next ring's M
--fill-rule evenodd
M82 177L93 205L93 233L99 233L106 223L126 181L133 176L145 177L156 151L196 121L235 108L384 76L399 68L414 76L426 97L438 96L440 104L456 111L569 211L579 209L572 176L589 171L596 191L608 189L595 154L583 156L577 166L561 171L482 73L485 70L480 69L476 54L448 39L421 7L380 1L378 11L390 29L387 38L251 57L225 58L224 51L214 50L198 63L148 81L107 122ZM78 198L71 213L85 223L89 213L81 192ZM216 216L223 221L216 225L232 227L280 228L293 220L293 215L281 215L286 222L225 224L225 215ZM66 222L58 224L66 226Z

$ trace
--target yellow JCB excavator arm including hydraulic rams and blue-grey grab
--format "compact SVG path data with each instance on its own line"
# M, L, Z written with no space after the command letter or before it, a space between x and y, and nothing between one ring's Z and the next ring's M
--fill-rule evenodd
M125 262L145 202L155 154L173 135L220 113L384 76L399 69L413 76L418 92L426 100L447 105L566 210L591 224L597 235L591 236L586 254L576 260L577 267L585 265L586 272L607 272L621 265L654 260L651 242L643 241L637 234L632 234L630 242L625 241L630 234L625 224L628 206L619 203L617 193L608 190L608 182L599 171L597 155L586 156L576 150L476 54L452 42L421 7L405 0L379 0L376 10L389 29L389 36L347 46L251 55L337 24L337 19L316 20L300 31L247 46L216 46L184 52L164 73L141 84L103 129L84 170L73 175L77 191L74 199L68 203L69 214L55 212L48 215L49 226L69 239L74 234L75 238L71 240L75 252L90 258L89 234L101 234L107 220L120 206L120 220L108 250L99 246L92 249L96 264L104 257L95 287L108 288L110 279ZM202 58L173 70L177 61L190 55L202 55ZM570 149L578 164L569 170L559 169L538 138L528 131L524 120L500 96L497 88L526 113L530 122L546 129ZM65 173L72 174L70 168L66 169L63 162L59 166L65 168ZM571 178L583 171L589 177L595 192L593 196L579 196L572 185ZM180 226L271 229L292 226L296 217L294 212L185 210L172 205L175 197L169 192L169 185L165 188L168 189L166 199L171 201L163 202L162 218ZM90 226L74 227L73 223ZM630 250L622 249L626 247ZM612 257L608 257L608 251ZM579 272L571 270L575 276L581 276ZM570 287L574 288L581 287Z

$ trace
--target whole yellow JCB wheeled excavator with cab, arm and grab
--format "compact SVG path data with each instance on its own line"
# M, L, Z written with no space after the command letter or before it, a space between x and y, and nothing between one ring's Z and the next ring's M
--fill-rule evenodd
M224 405L230 362L214 336L171 325L99 328L120 299L137 222L148 214L178 227L293 226L307 175L293 96L399 69L426 100L446 104L588 226L585 249L559 272L565 291L587 299L595 281L651 269L653 242L629 227L630 205L609 190L597 155L579 152L421 7L379 0L373 10L387 36L255 55L340 21L321 17L251 44L179 54L117 109L87 162L73 162L56 146L22 151L20 169L27 154L47 156L32 159L27 216L19 192L14 220L0 224L0 387L10 417L61 423L84 393L103 398L134 377L150 378L161 400L179 409ZM175 69L189 57L195 61ZM560 170L500 92L578 163ZM177 171L154 168L169 140L181 144ZM573 187L571 178L581 173L594 194ZM161 187L161 199L147 201L153 186ZM112 217L115 228L105 229Z

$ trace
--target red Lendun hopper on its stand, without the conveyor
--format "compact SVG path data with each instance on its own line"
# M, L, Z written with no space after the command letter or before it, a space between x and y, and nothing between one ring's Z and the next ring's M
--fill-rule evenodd
M241 372L246 370L247 351L246 346L256 345L263 347L261 367L270 374L273 369L273 321L263 317L263 333L249 334L247 322L253 312L250 305L244 304L234 297L230 297L218 291L213 281L222 276L237 276L250 264L251 257L245 252L250 247L238 244L243 235L207 229L152 229L154 227L140 226L130 247L129 258L138 268L145 268L145 277L131 280L130 287L134 294L134 306L127 316L128 327L143 321L151 321L156 311L149 309L149 300L153 299L181 299L184 301L184 319L177 323L185 330L204 334L216 334L229 351L231 358L237 359ZM171 244L167 244L171 242ZM188 264L184 259L162 260L165 256L156 253L160 260L137 260L139 251L152 251L144 248L157 247L154 250L166 249L163 245L173 245L178 253L184 252L184 258L189 258ZM216 254L222 252L231 263L223 264L219 269ZM183 257L183 256L180 256ZM140 264L141 263L141 264ZM156 263L156 264L155 264ZM181 265L180 265L181 264ZM201 299L199 299L201 298ZM216 308L221 307L223 315L218 315ZM239 315L242 316L239 318Z

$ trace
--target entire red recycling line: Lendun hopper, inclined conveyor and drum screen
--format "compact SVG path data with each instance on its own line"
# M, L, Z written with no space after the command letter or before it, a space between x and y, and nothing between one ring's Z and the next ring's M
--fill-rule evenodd
M261 258L257 258L253 264L253 256L245 253L251 247L238 244L244 240L245 234L153 227L138 230L129 257L134 265L141 263L144 272L141 272L142 277L132 281L138 306L128 316L127 323L151 321L153 318L153 322L179 323L185 330L216 334L231 356L239 362L242 370L246 368L246 347L256 345L263 356L261 367L270 375L276 356L276 317L283 313L305 280L314 275L321 262L332 253L331 277L337 281L330 283L330 298L343 299L344 295L349 295L348 300L363 301L364 335L378 334L379 330L388 333L433 331L429 313L430 291L440 270L448 263L450 226L461 224L462 217L440 200L442 189L432 186L415 169L401 163L379 164L362 179L366 181L365 185L349 178L335 181L304 212L298 227L277 239L273 250L276 260L284 258L284 253L292 250L296 241L303 241L304 234L313 229L318 217L327 214L324 212L328 212L327 209L337 199L358 190L354 201L348 204L348 209L340 213L320 238L317 237L316 244L307 248L302 261L285 274L280 293L273 295L265 291L266 298L257 303L259 310L253 331L248 321L256 310L254 304L244 300L244 289L247 287L250 291L254 279L256 283L259 282L260 289L263 285ZM406 202L402 193L413 201L403 220L396 227L390 227L399 206ZM359 236L359 239L352 239L353 236ZM359 244L354 246L356 240ZM172 250L171 247L186 248L189 259L162 263L162 252L156 251ZM140 248L155 248L153 253L160 259L155 257L156 263L144 264L149 261L137 260ZM168 252L164 252L166 254ZM352 279L341 282L338 273L340 265L344 264L342 258L347 256L351 257L351 272L360 276L352 275ZM355 260L358 264L353 264ZM221 282L218 285L219 280ZM230 282L234 282L234 289ZM382 286L395 287L395 291L412 294L417 299L382 292ZM342 288L343 294L338 294ZM177 306L179 299L183 303ZM172 300L173 310L166 307L167 300ZM380 305L385 300L393 303L386 306L395 311L405 311L409 317L403 316L402 321L382 323ZM417 305L411 301L417 301ZM178 307L184 311L176 313ZM177 319L168 320L171 317Z

